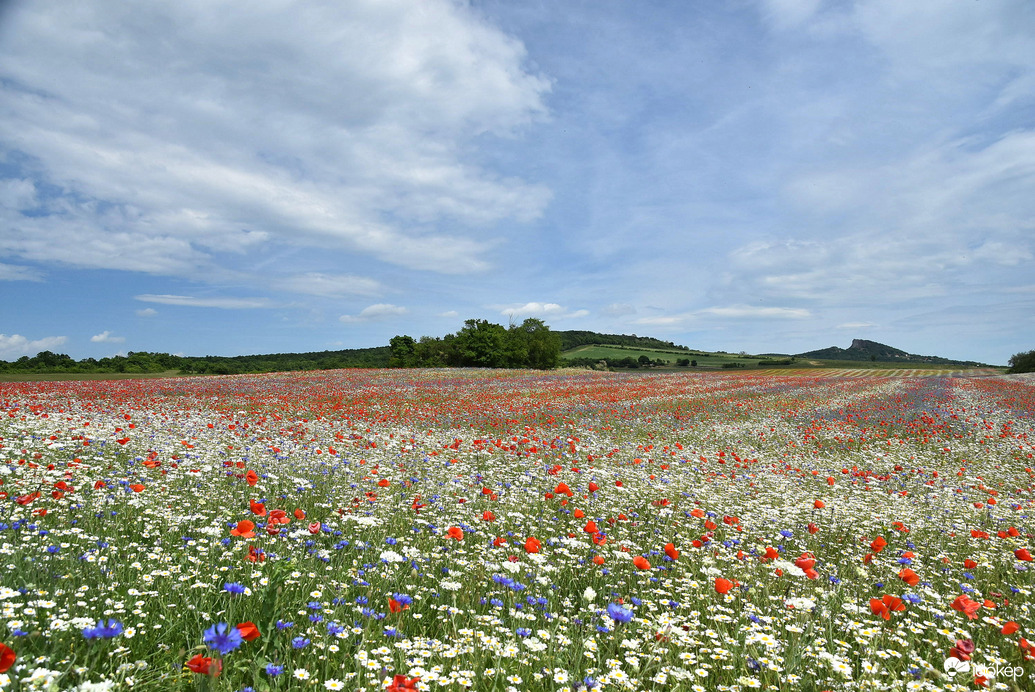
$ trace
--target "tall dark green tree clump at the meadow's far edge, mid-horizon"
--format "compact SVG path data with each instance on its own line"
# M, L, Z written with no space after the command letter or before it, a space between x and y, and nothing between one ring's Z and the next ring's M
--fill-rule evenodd
M393 336L390 367L556 367L561 339L541 320L529 318L509 328L487 320L468 320L442 338Z

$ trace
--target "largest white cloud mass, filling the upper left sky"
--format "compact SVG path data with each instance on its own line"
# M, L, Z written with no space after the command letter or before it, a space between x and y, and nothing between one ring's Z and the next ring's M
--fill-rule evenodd
M480 229L550 199L466 153L551 85L463 4L21 3L0 30L0 151L31 161L0 185L0 255L211 280L304 245L465 273Z

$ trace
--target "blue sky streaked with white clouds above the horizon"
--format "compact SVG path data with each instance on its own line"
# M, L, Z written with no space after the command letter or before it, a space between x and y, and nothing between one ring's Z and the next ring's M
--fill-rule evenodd
M0 359L1035 348L1027 0L0 9Z

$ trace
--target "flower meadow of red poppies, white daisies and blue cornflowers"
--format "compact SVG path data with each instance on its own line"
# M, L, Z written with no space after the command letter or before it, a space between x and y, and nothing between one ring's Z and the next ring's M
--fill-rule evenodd
M1031 689L1035 387L0 384L4 690Z

